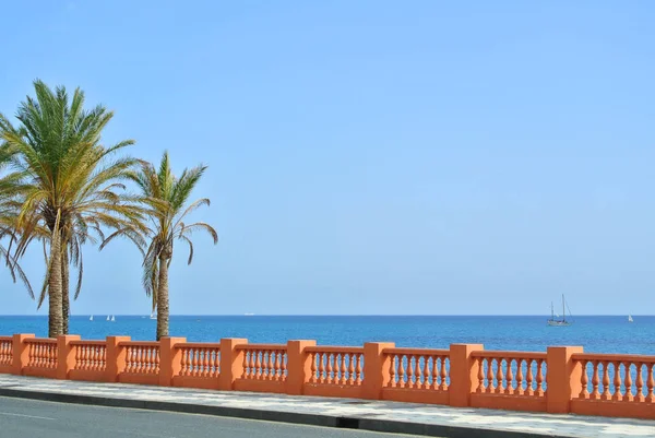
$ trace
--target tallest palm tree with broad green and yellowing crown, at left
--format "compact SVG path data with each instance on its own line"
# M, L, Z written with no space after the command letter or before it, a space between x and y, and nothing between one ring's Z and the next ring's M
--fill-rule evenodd
M24 254L35 239L43 241L46 275L39 306L47 296L48 333L57 336L63 333L67 253L73 254L79 268L76 295L83 273L81 245L94 234L104 240L104 226L141 229L143 217L142 209L121 184L138 162L114 157L134 142L126 140L112 146L102 143L103 129L114 113L102 105L85 110L80 88L72 99L63 86L50 90L37 80L34 88L36 98L28 96L19 106L17 127L0 115L0 135L3 153L12 156L23 181L15 254Z

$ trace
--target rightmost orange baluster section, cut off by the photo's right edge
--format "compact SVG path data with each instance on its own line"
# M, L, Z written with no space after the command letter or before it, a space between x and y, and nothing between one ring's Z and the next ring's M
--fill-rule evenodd
M572 394L571 412L655 418L655 357L581 353L572 360L580 391Z

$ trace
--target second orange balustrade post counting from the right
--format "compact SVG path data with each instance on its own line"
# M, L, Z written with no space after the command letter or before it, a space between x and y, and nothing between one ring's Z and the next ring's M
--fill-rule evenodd
M451 344L450 346L450 386L449 404L466 407L471 405L471 393L478 388L477 359L473 352L484 351L483 344Z

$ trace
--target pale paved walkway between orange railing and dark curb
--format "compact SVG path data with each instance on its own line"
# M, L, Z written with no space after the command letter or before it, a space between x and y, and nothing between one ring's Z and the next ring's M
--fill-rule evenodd
M0 375L0 395L442 437L654 437L655 422Z

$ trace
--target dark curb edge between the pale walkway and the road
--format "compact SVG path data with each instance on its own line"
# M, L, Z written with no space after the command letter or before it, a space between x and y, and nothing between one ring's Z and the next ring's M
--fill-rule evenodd
M265 422L359 429L386 434L421 435L440 438L570 438L563 435L535 434L529 431L431 425L357 416L343 417L323 414L251 410L245 407L207 406L202 404L159 402L153 400L115 399L98 395L67 394L61 392L27 391L22 389L9 389L7 387L0 387L0 396L29 399L45 402L88 404L107 407L126 407L242 419L259 419Z

